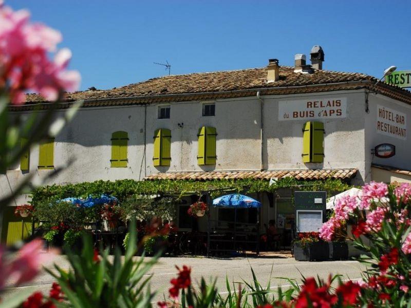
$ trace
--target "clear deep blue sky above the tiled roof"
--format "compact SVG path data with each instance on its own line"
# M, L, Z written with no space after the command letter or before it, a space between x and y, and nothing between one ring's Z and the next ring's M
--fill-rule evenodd
M14 0L33 21L60 30L82 89L172 74L293 65L313 45L324 69L381 76L411 69L411 1Z

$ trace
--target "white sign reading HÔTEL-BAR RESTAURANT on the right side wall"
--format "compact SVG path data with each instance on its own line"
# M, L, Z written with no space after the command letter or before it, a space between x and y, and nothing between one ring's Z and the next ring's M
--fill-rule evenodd
M384 106L377 106L377 132L386 136L407 139L407 115Z

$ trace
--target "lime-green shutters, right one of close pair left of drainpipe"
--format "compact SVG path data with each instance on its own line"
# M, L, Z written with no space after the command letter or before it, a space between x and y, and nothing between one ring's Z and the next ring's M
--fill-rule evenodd
M198 165L215 165L216 136L214 127L203 126L198 130Z

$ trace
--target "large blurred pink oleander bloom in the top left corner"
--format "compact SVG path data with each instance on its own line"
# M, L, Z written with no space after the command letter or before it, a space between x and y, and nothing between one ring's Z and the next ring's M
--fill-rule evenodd
M62 92L77 90L80 83L77 71L66 70L68 49L48 60L47 53L57 50L61 33L29 23L29 18L28 11L13 11L0 2L0 88L7 87L13 104L23 104L28 90L55 101Z

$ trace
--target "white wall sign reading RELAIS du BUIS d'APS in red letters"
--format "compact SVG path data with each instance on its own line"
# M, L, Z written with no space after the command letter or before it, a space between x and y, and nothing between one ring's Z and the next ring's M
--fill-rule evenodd
M278 102L278 121L343 119L347 116L347 98L314 98Z

